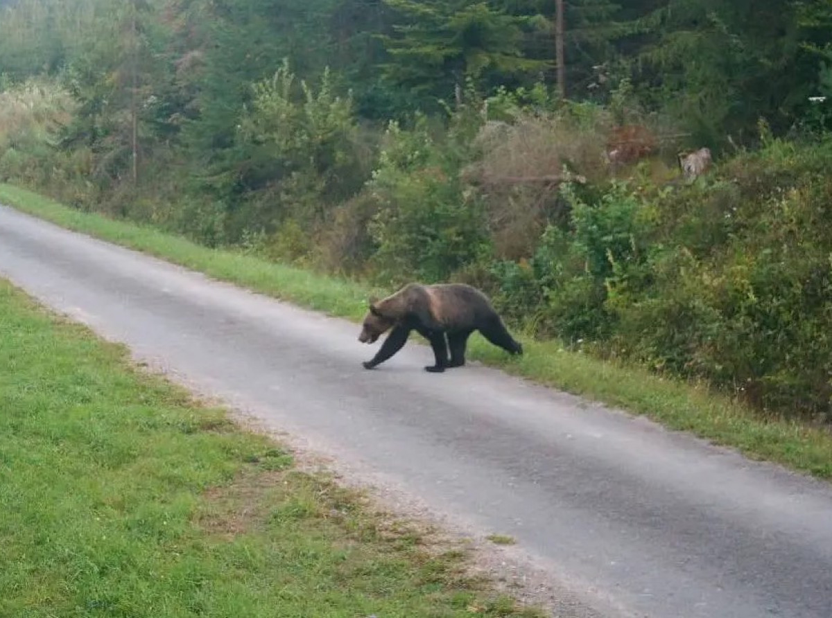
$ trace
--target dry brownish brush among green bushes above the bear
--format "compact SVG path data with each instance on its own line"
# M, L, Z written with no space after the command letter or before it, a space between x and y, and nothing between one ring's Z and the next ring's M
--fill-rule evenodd
M567 203L557 190L565 180L597 184L646 173L664 183L676 176L667 164L677 139L672 123L653 115L637 116L634 122L650 136L651 147L636 147L626 161L616 162L610 148L622 126L600 107L567 107L547 115L524 112L511 123L487 122L474 144L477 161L463 171L463 178L488 205L497 256L530 257L547 223L567 216ZM630 141L624 146L633 150Z

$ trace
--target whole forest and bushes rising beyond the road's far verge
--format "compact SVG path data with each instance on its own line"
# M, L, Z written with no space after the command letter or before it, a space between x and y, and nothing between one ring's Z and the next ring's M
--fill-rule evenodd
M558 4L0 0L0 181L832 421L832 0Z

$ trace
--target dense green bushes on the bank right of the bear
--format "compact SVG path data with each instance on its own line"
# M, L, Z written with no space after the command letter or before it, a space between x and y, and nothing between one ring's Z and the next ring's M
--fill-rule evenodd
M691 186L562 192L495 299L539 334L832 419L832 144L772 141ZM587 195L581 195L581 194Z

